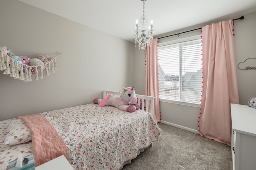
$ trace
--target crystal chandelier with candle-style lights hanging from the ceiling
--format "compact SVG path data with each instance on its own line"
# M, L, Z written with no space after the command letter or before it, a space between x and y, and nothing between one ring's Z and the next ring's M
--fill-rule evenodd
M151 39L153 39L153 33L155 32L153 29L153 21L151 21L151 25L148 25L148 17L144 14L144 5L146 0L143 1L143 15L140 17L140 25L138 25L138 20L136 20L135 27L135 47L137 43L139 43L139 49L145 49L146 44L149 46Z

